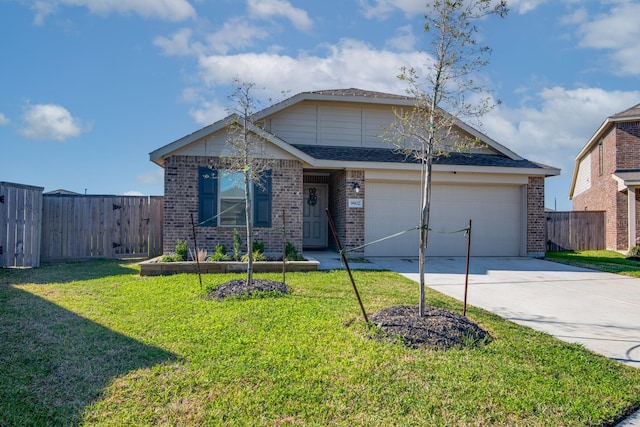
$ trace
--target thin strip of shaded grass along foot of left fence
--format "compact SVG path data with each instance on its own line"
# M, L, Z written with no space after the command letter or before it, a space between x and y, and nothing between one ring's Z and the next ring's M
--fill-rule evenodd
M42 263L38 268L2 268L0 285L70 283L138 274L135 260L92 259Z

